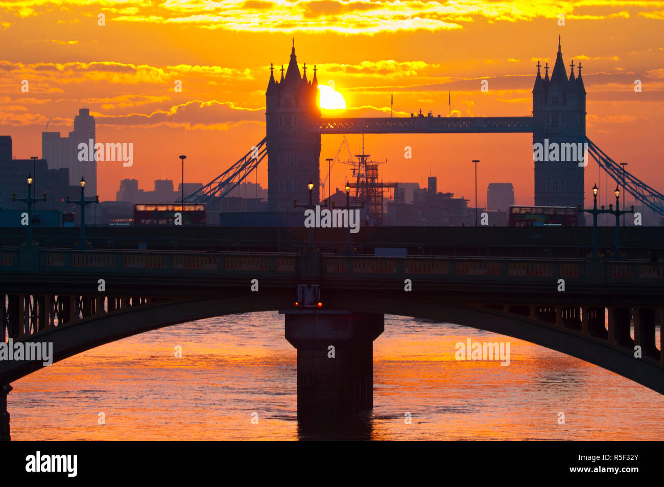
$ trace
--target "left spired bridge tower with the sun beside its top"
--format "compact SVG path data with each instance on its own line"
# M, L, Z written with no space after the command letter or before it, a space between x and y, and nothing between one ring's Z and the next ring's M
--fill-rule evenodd
M316 67L313 79L307 80L307 64L299 74L295 41L290 62L279 82L270 81L266 98L266 134L268 145L268 207L270 211L295 211L293 199L308 201L309 180L313 181L313 201L319 201L319 158L321 135L309 130L321 118L318 106Z

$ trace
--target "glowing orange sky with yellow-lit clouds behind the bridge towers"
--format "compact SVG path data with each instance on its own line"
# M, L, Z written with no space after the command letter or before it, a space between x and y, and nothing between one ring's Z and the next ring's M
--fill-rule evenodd
M663 25L664 1L9 0L0 6L0 135L12 136L17 157L41 155L48 120L66 135L87 106L98 142L133 143L132 167L98 163L100 199L114 200L120 179L177 186L181 153L185 179L207 183L260 141L268 68L288 64L291 37L300 66L317 64L319 82L333 80L346 99L347 110L323 116L389 115L392 91L395 116L420 108L447 116L448 90L453 116L523 116L535 64L552 64L561 35L566 65L584 66L588 137L664 191ZM483 79L489 92L480 92ZM356 152L361 136L347 137ZM326 166L342 137L322 139ZM470 205L471 159L481 160L479 205L487 183L506 181L517 203L533 202L531 143L530 134L365 138L374 159L388 159L385 181L421 183L431 173L438 191ZM337 165L333 188L348 176ZM591 161L586 196L597 180ZM267 185L265 161L258 182Z

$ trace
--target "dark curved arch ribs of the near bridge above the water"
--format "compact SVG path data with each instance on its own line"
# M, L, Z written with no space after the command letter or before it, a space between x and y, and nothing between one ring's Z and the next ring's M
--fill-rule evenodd
M55 362L99 345L166 326L214 316L289 309L292 307L291 298L290 292L261 292L260 296L243 293L170 300L58 326L31 336L26 341L52 342ZM432 298L371 292L360 294L352 290L329 292L326 298L327 302L336 303L326 306L327 309L438 320L529 341L593 363L664 394L664 381L661 380L664 367L661 365L636 359L628 349L616 349L608 343L527 316L451 304ZM42 367L41 361L0 361L0 383L9 384Z

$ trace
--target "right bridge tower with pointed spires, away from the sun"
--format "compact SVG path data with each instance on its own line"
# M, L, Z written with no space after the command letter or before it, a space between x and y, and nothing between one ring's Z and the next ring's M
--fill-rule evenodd
M548 77L548 62L544 66L543 79L540 63L537 62L537 78L533 87L533 150L535 144L542 144L544 155L547 147L553 147L552 144L558 146L558 155L554 155L558 161L535 160L535 205L538 206L576 207L584 203L584 167L578 161L583 155L576 154L571 161L561 160L561 153L566 156L572 153L571 146L562 144L575 144L576 153L576 149L583 147L578 144L586 140L586 89L581 77L581 63L576 78L574 61L570 66L568 78L562 60L560 36L551 78ZM564 150L561 150L562 147ZM579 218L579 224L583 225L583 214Z

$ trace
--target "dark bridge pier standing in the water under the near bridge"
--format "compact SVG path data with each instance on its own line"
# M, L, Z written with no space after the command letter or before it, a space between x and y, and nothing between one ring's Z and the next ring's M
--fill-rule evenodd
M321 424L373 408L375 313L286 312L286 340L297 348L297 421Z

